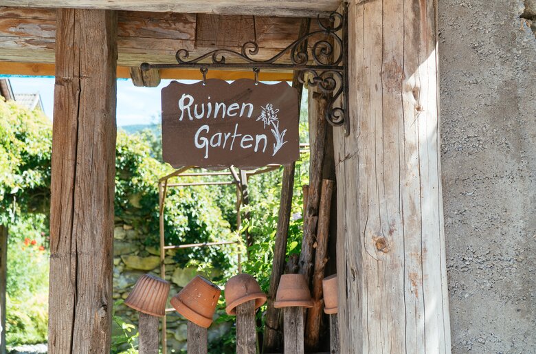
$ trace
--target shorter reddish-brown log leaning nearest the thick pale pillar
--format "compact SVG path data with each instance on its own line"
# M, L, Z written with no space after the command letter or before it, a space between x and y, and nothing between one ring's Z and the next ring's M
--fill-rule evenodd
M320 324L322 310L324 309L324 302L322 301L322 280L324 279L324 269L328 262L329 219L333 184L335 182L329 179L322 180L318 228L316 232L315 270L313 272L313 307L307 311L307 322L305 326L305 347L308 351L316 351L320 340Z

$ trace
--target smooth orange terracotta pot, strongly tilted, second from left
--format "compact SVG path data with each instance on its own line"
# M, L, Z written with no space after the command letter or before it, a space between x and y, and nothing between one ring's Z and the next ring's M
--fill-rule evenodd
M221 289L210 280L196 276L171 299L172 307L187 320L208 328L221 294Z

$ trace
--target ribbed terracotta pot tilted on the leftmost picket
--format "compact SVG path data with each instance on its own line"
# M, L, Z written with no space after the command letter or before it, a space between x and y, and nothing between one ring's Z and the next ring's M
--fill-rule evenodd
M162 317L166 313L169 287L166 280L153 274L144 274L139 277L124 304L139 312Z

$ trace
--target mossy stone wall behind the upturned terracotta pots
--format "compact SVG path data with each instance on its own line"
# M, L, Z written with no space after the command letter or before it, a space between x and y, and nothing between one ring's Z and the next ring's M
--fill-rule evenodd
M126 299L133 288L136 280L142 274L150 273L160 276L160 253L157 247L144 245L147 230L144 228L135 230L131 225L116 219L113 243L113 300ZM168 300L177 294L182 287L194 278L197 274L202 274L207 278L213 278L217 272L197 272L194 268L181 268L175 265L173 255L175 250L168 250L164 263L166 264L166 280L171 284ZM168 301L168 308L169 305ZM127 322L135 324L137 327L137 311L119 305L115 307L115 314ZM160 322L161 323L161 322ZM168 353L173 353L186 349L187 324L186 320L176 311L168 313L167 316L167 339ZM213 323L208 329L209 342L219 340L221 336L230 329L229 322ZM113 335L122 334L122 330L115 322L112 329Z

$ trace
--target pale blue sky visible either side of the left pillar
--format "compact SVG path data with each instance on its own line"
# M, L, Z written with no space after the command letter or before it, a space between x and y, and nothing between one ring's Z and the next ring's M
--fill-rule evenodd
M46 115L52 119L54 78L9 78L14 93L41 93ZM118 126L159 122L160 90L171 80L162 80L159 87L135 87L131 79L118 80Z

